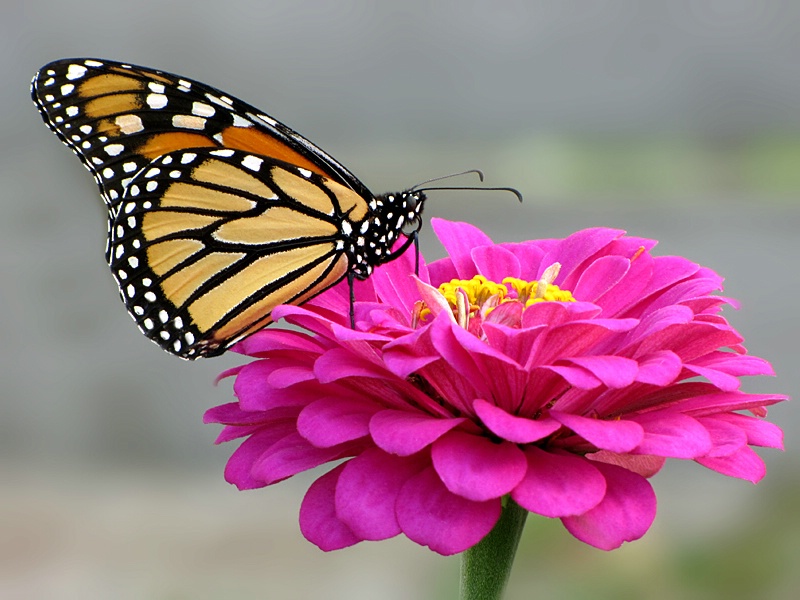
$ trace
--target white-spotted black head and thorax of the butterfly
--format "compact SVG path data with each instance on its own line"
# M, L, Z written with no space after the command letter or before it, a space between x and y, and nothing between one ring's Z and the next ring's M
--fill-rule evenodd
M425 198L424 192L413 190L375 196L371 214L351 237L351 269L356 277L369 277L375 267L397 258L408 248L422 226ZM395 247L403 235L406 240Z

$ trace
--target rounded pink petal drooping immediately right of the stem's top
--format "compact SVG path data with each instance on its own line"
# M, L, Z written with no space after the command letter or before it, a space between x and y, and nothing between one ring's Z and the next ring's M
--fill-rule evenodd
M511 497L531 512L546 517L580 515L606 494L605 478L584 458L536 446L526 448L525 457L528 470Z

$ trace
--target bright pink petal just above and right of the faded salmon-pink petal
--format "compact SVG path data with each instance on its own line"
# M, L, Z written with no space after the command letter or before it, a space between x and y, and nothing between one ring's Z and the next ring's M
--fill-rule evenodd
M635 454L691 459L711 450L708 430L690 416L658 411L636 415L631 420L644 428L644 438Z

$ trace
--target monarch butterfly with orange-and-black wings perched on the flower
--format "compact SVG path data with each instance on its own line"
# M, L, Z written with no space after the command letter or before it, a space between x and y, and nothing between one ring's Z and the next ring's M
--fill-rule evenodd
M181 358L219 355L345 277L352 298L422 226L419 186L373 195L283 123L186 77L63 59L31 96L100 188L128 312Z

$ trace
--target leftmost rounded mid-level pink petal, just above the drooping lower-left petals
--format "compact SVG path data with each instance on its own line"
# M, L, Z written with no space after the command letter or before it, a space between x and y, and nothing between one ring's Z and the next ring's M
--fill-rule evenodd
M297 431L314 446L336 446L369 435L369 420L379 410L367 400L321 398L300 412Z

